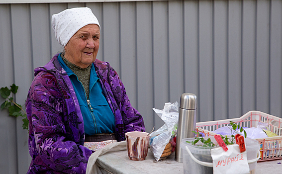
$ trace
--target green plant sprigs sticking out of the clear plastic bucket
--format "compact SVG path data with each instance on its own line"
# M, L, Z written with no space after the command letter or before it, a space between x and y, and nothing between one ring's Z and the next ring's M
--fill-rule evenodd
M235 144L234 140L235 140L235 133L237 134L237 129L240 130L240 132L244 132L244 136L245 138L247 137L247 133L246 131L243 129L243 127L241 127L239 124L237 125L235 122L233 121L230 121L230 125L231 125L231 128L230 128L230 131L231 131L231 139L229 137L227 137L227 135L225 137L223 137L222 135L221 138L223 140L223 142L227 145L231 145L231 144ZM217 146L218 144L214 144L210 138L208 139L204 139L200 133L198 132L195 132L195 131L192 131L193 133L195 133L197 136L195 137L195 141L186 141L187 143L191 143L192 145L194 146L202 146L202 147L215 147ZM198 142L201 142L203 145L196 145L196 143Z

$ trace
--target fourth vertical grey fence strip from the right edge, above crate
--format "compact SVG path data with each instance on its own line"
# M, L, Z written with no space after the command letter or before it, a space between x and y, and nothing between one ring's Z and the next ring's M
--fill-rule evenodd
M228 117L242 115L242 0L228 1Z

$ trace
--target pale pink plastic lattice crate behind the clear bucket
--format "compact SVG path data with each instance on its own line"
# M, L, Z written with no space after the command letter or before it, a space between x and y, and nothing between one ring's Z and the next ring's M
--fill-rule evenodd
M240 118L196 123L196 131L205 136L214 136L212 131L227 126L230 121L243 127L257 127L258 122L268 123L270 131L279 136L256 139L260 144L261 158L258 162L282 159L282 118L260 111L249 111Z

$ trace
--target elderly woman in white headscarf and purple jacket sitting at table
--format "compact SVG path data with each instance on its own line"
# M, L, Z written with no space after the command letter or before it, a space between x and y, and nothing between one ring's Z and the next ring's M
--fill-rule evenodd
M28 174L83 174L91 154L145 131L116 71L96 59L100 25L88 7L52 16L64 52L34 70L26 111L29 120Z

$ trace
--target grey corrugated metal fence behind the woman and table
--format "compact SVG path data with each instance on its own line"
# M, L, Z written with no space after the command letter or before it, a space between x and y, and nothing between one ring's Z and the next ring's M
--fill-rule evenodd
M78 6L97 16L97 59L117 70L148 130L163 124L152 108L179 101L184 92L198 96L197 121L249 110L281 117L281 0L0 4L0 87L19 86L18 103L24 104L33 69L63 50L51 15ZM21 124L0 111L1 174L28 169Z

